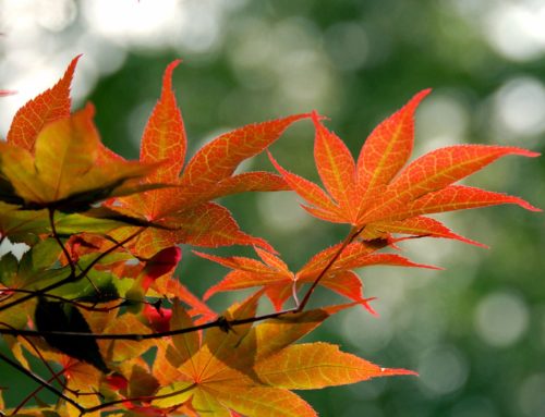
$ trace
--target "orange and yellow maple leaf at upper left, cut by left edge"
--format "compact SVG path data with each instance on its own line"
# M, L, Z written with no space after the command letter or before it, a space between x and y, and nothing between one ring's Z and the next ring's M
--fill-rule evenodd
M5 203L83 211L107 197L157 187L138 181L158 162L97 165L102 145L93 106L70 113L70 84L78 58L52 88L15 113L7 142L0 143L0 199Z

